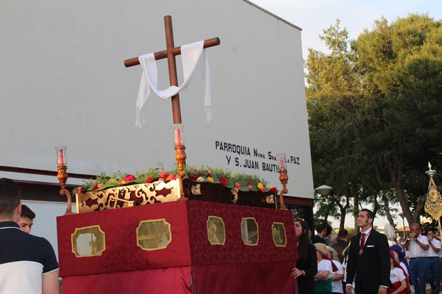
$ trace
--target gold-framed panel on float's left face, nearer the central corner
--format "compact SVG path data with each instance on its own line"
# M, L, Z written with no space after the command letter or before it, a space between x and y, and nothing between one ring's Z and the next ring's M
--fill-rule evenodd
M143 220L137 228L137 245L144 250L164 249L171 241L171 224L164 218Z

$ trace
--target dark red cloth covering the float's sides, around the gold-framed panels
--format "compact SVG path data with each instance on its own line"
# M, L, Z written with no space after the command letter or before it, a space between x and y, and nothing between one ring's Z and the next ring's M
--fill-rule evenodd
M209 242L209 216L222 218L224 245ZM242 218L258 223L256 246L244 244ZM143 250L137 246L137 227L159 219L170 224L171 242L164 249ZM273 222L284 224L286 246L274 244ZM106 249L101 255L77 257L71 235L93 226L104 231ZM291 211L182 200L60 216L57 233L64 293L191 293L191 281L197 294L294 293L289 273L298 251ZM79 285L90 291L82 292ZM174 290L165 291L168 286Z

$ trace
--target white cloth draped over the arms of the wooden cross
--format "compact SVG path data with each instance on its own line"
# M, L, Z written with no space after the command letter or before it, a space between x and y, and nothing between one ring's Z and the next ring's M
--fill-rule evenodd
M181 57L184 82L180 87L170 86L166 90L158 90L157 63L153 53L138 57L143 73L136 103L137 118L135 125L133 126L134 128L138 127L141 129L142 125L145 124L141 109L151 93L151 88L155 94L161 98L167 99L186 89L194 74L198 74L204 83L204 109L206 111L206 121L212 120L210 70L206 50L204 49L204 41L182 45Z

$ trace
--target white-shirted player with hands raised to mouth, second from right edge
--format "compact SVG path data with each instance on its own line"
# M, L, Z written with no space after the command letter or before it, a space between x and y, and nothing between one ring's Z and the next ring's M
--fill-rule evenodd
M425 286L428 275L427 251L430 248L428 239L421 235L421 226L412 224L412 233L410 241L405 243L405 249L410 257L410 269L414 275L414 292L416 294L425 294Z

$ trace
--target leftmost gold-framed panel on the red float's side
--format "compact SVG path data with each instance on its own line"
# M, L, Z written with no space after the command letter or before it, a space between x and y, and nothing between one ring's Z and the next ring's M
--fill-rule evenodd
M72 252L77 258L99 256L106 250L104 231L98 225L75 229L70 240Z

